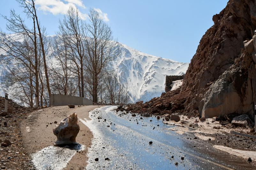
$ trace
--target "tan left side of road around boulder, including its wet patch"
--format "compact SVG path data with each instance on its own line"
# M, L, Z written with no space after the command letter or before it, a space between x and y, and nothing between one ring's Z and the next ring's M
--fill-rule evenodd
M36 169L84 169L87 165L87 149L91 145L93 137L91 131L83 123L79 122L80 132L76 141L80 144L75 147L53 146L56 136L52 129L56 126L54 121L76 112L78 117L89 119L89 111L100 106L76 106L74 109L68 106L56 106L32 112L22 122L21 131L26 150L31 153L32 162ZM78 151L78 152L77 152Z

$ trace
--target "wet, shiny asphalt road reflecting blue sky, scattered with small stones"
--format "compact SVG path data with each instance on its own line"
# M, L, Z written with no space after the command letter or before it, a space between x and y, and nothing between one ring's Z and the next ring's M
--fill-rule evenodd
M94 134L86 169L256 169L207 142L168 130L173 126L161 119L120 115L114 108L91 111L92 120L80 118Z

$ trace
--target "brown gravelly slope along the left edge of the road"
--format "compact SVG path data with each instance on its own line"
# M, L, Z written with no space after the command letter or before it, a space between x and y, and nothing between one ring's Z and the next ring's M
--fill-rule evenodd
M24 149L25 142L20 131L21 121L26 120L33 109L20 106L8 99L8 113L6 113L4 102L5 99L0 97L0 167L1 169L34 169L30 155Z

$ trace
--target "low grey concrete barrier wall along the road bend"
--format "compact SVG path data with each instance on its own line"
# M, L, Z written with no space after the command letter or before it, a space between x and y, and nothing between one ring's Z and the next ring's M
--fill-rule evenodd
M92 100L89 100L83 97L51 94L50 106L63 106L63 105L93 105L93 102Z

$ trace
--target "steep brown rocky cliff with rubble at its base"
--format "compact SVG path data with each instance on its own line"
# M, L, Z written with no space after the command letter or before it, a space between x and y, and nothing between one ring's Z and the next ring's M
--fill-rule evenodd
M171 110L205 118L237 113L253 119L256 2L230 0L213 21L200 40L181 88L142 106L135 104L132 111Z

